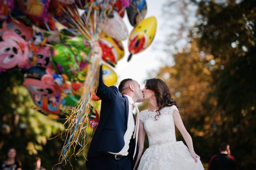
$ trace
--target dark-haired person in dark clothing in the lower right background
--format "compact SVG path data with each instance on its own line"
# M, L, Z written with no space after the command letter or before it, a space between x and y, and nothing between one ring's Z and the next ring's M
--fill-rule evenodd
M208 164L208 170L235 170L236 165L234 156L230 155L230 146L227 143L221 143L220 153L212 156Z

